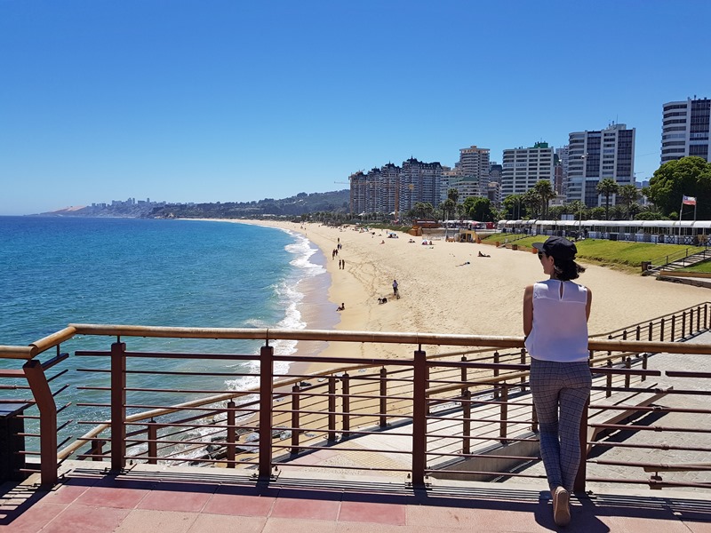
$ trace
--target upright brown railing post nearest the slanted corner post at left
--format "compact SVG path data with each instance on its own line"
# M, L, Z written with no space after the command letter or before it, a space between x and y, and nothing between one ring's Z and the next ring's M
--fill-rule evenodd
M126 465L126 343L111 345L111 470Z

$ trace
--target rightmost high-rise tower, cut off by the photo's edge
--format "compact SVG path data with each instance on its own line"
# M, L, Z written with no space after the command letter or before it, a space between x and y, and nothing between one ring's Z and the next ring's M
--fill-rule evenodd
M711 161L711 99L667 102L662 112L661 163L698 155Z

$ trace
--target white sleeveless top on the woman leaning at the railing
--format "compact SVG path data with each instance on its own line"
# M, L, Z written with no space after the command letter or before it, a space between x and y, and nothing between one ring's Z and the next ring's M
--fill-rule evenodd
M533 328L525 342L531 357L539 361L587 361L586 305L587 289L578 283L535 283Z

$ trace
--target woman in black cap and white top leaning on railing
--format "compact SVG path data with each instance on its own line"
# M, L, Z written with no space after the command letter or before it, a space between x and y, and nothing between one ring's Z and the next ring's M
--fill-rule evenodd
M531 355L531 395L539 421L540 456L555 524L571 521L570 493L580 464L580 420L590 397L587 319L592 292L571 280L585 271L563 237L533 243L549 278L523 293L523 334Z

